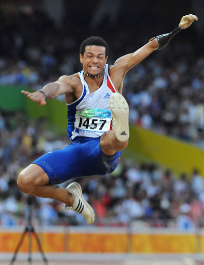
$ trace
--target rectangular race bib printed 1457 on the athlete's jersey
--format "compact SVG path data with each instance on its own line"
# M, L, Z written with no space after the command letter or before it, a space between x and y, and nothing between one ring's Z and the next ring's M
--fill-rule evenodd
M75 128L81 131L104 132L110 129L111 112L109 110L89 109L75 116Z

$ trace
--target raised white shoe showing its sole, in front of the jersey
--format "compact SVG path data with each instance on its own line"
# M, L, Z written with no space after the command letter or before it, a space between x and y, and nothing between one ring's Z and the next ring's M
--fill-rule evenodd
M113 93L109 101L113 131L120 142L129 139L129 106L120 93Z

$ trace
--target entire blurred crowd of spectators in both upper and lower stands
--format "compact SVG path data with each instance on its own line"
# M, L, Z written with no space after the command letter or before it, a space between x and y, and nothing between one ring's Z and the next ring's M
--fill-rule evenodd
M79 48L83 39L75 34L82 30L79 25L69 29L64 23L59 29L42 10L28 7L9 13L0 9L0 14L1 86L21 85L38 90L63 74L81 70ZM110 65L152 37L143 37L137 46L127 45L125 31L120 29L114 28L114 38L110 34L108 39ZM99 32L104 37L103 28ZM203 54L181 35L176 36L164 50L155 51L126 75L123 94L130 105L130 122L204 148L203 86ZM16 186L19 171L36 157L69 144L67 137L48 133L46 128L45 120L33 121L22 113L0 115L2 226L24 224L31 208L28 200L32 201L33 219L41 225L84 224L81 215L64 210L62 203L30 198ZM125 226L136 222L145 227L182 230L203 226L204 186L197 169L190 176L183 173L176 178L158 165L121 160L111 175L77 181L95 209L96 225Z

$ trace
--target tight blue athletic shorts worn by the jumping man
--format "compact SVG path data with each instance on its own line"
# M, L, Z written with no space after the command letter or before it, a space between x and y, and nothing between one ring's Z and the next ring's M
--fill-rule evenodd
M48 152L32 163L46 172L48 183L52 184L75 177L106 175L116 169L121 151L106 155L99 141L100 138L76 137L64 149Z

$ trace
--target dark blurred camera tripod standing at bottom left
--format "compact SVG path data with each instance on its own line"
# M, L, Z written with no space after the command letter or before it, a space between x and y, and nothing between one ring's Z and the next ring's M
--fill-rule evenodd
M28 257L29 264L32 264L32 234L33 234L35 239L36 239L36 241L37 241L38 249L39 249L39 252L42 255L42 259L43 259L45 265L48 265L47 259L46 259L45 255L44 255L44 252L42 250L42 246L40 244L39 237L38 237L38 235L35 232L34 226L32 225L33 196L29 196L28 197L27 203L28 203L28 222L27 222L27 225L25 226L24 232L22 233L22 235L20 237L20 241L19 241L19 243L18 243L18 245L16 247L16 250L14 252L14 255L13 255L13 258L12 258L12 260L10 262L10 265L12 265L14 263L14 261L16 260L16 256L17 256L17 253L19 251L19 248L22 245L22 242L23 242L25 234L27 234L27 233L29 235L29 257Z

